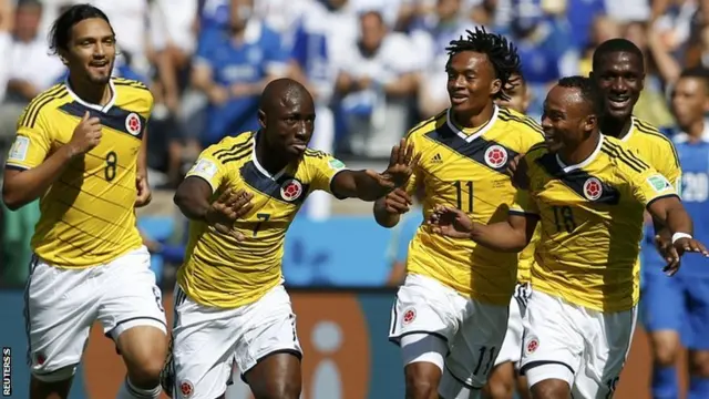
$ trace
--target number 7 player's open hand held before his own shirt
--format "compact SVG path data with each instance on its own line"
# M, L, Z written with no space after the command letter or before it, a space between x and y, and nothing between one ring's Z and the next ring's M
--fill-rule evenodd
M218 233L243 241L245 236L234 228L234 222L251 211L254 207L250 202L253 197L254 194L244 190L234 192L232 188L227 188L217 201L212 203L205 218Z

